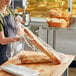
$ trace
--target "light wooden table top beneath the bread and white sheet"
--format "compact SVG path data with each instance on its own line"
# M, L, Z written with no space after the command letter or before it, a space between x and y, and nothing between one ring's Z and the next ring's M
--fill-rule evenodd
M72 55L67 55L67 56L69 57L68 62L60 65L53 65L52 63L21 64L17 55L1 66L8 64L16 64L16 65L26 66L34 70L38 70L40 72L39 76L61 76L74 59L74 56ZM14 75L0 70L0 76L14 76Z

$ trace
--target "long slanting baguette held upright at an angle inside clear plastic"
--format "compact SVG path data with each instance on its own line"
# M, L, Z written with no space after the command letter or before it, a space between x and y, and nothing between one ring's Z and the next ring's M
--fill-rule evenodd
M50 60L52 60L53 63L61 63L59 56L55 53L55 50L52 47L50 50L48 49L48 47L45 47L27 27L24 28L24 32L30 39L32 39L32 44L34 44L42 52L44 52L50 58Z

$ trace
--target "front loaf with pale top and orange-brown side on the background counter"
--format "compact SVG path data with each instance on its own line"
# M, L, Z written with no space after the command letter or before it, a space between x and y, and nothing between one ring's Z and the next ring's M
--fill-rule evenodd
M62 27L62 28L68 27L68 23L64 19L48 18L47 22L48 22L48 26L51 27Z

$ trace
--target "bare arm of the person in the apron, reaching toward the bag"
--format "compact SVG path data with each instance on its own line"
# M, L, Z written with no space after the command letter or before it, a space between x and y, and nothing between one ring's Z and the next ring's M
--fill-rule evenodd
M21 37L16 37L16 38L8 38L4 36L4 32L0 31L0 44L5 45L5 44L9 44L12 42L16 42L16 41L20 41L22 40Z

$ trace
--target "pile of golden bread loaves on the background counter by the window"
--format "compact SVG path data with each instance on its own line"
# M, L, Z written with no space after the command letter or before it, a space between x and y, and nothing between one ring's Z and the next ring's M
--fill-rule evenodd
M47 19L48 26L66 28L70 25L71 14L59 8L50 10L50 19Z

